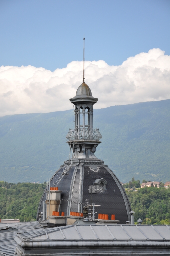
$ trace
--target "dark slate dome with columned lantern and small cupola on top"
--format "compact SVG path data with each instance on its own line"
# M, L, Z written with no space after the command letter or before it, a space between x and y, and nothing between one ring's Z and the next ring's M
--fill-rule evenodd
M120 224L126 224L130 220L131 207L125 190L113 171L102 159L95 156L102 138L99 129L93 128L93 105L98 99L92 96L89 86L83 82L77 89L76 96L70 101L75 106L75 127L66 136L70 158L57 170L45 188L39 203L37 220L42 212L42 202L48 204L46 197L49 187L58 187L62 191L58 208L60 213L70 215L70 212L82 212L83 206L95 203L100 205L95 207L96 214L108 214L109 219L115 214ZM47 207L45 211L48 218Z

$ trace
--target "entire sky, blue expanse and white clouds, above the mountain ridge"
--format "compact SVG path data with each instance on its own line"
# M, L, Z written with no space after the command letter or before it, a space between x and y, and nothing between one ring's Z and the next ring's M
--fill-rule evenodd
M0 0L0 116L170 99L169 0Z

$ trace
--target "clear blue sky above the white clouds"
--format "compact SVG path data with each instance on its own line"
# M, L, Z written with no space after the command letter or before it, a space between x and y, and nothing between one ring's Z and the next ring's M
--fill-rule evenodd
M169 0L0 0L0 66L54 71L73 60L121 65L160 48L170 55Z

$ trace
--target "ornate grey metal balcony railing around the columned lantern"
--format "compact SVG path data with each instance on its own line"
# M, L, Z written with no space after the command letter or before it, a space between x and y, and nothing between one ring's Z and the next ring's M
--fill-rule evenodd
M70 129L66 138L71 140L100 140L102 138L99 129L77 128Z

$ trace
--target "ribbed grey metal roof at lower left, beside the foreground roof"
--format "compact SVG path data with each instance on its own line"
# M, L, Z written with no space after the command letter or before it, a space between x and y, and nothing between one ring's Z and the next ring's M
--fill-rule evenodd
M0 255L3 256L13 256L15 255L15 250L17 243L14 240L14 237L17 236L17 233L20 232L30 232L34 229L37 230L43 229L42 226L38 222L19 222L19 223L1 223L0 224L0 230L6 227L13 227L15 228L14 231L6 231L3 233L0 233ZM17 230L16 230L17 229Z

